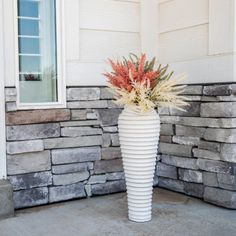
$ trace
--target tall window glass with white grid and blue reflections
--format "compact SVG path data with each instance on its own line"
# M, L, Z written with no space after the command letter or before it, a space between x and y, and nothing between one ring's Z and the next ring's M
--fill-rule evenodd
M60 101L56 0L18 0L18 102Z

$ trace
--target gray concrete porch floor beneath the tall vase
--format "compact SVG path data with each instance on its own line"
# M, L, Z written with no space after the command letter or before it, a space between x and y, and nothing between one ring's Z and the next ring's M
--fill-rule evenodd
M235 236L236 211L156 188L153 219L127 220L126 194L119 193L35 207L0 221L1 236Z

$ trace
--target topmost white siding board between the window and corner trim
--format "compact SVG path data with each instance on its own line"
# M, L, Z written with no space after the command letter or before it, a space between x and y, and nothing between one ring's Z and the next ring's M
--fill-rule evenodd
M112 0L80 0L80 28L139 32L139 4Z

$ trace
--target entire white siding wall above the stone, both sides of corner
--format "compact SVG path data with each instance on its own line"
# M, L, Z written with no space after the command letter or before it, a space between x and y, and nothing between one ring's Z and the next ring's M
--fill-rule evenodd
M5 83L14 86L16 0L1 1ZM187 72L187 83L236 80L236 0L62 1L67 86L103 85L107 57L141 51Z

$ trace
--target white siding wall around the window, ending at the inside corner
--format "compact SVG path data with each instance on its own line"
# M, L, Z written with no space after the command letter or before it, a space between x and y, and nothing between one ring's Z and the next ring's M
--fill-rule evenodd
M1 1L5 9L6 86L14 86L17 52L14 2L17 0ZM141 51L155 54L157 0L61 1L67 86L105 84L101 74L108 69L105 63L108 57L117 58ZM147 30L153 33L147 34Z

